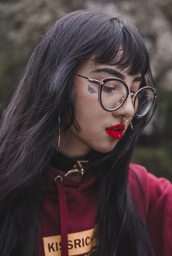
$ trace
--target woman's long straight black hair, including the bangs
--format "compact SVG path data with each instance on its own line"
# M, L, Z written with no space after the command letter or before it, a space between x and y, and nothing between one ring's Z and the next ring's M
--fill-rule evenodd
M122 54L118 55L121 50ZM74 124L75 70L90 57L97 63L141 73L153 85L149 57L136 28L121 17L81 10L57 21L42 37L4 111L0 128L0 253L1 256L38 255L46 170L58 135L58 116L68 113ZM149 84L149 85L150 85ZM142 84L141 84L142 86ZM137 136L154 107L133 118L108 154L94 152L99 167L99 256L146 256L151 246L146 225L128 191L128 166Z

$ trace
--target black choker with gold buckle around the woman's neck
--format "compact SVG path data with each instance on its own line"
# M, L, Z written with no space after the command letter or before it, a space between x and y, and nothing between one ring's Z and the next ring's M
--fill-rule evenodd
M64 176L68 176L71 173L79 173L84 175L84 168L88 161L75 161L62 155L60 152L54 154L51 157L50 165L58 170L64 171Z

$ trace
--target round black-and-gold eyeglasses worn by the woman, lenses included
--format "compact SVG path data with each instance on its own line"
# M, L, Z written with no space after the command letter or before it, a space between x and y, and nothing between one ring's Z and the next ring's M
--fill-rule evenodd
M99 81L86 76L75 75L85 78L91 83L99 84L98 101L101 108L107 112L118 110L125 103L128 95L131 95L135 116L141 118L148 113L155 98L157 98L155 89L149 86L142 87L137 92L130 92L126 83L116 77L103 78Z

